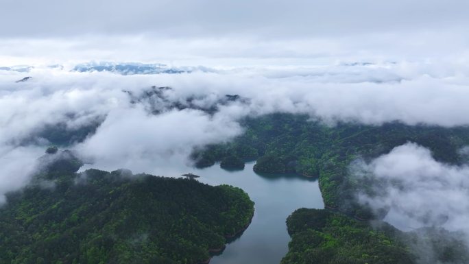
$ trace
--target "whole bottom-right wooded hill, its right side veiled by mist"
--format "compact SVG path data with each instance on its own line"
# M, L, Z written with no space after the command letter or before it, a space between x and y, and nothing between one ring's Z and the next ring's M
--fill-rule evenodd
M372 227L340 213L306 208L288 217L287 228L292 240L281 264L462 264L469 261L464 241L435 228L405 233L384 222L377 221ZM425 252L419 252L422 250Z

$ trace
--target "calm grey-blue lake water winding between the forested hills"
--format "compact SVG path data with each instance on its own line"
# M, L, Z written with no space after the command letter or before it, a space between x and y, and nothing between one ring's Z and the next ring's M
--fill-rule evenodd
M297 208L324 208L317 181L295 174L261 174L254 162L241 171L226 171L219 165L192 169L200 182L230 184L249 193L256 211L241 236L234 237L211 264L276 264L287 253L290 237L285 220ZM182 171L184 172L184 171Z

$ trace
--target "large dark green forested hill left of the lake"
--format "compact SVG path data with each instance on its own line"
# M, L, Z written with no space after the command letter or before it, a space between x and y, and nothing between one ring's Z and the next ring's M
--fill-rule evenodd
M75 173L81 163L71 152L40 160L42 172L0 208L0 263L202 263L254 213L235 187L127 170Z

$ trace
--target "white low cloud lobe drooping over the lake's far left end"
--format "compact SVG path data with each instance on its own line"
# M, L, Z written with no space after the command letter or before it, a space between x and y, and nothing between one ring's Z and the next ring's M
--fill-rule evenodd
M194 147L227 141L241 131L234 119L220 115L171 110L154 116L137 106L110 112L96 134L76 149L95 160L93 166L145 172L175 160L187 163Z

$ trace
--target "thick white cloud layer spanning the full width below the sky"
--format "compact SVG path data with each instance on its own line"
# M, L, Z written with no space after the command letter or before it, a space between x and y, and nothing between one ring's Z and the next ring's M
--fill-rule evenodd
M399 120L468 125L469 117L461 112L469 112L469 77L461 69L464 66L457 62L393 62L128 76L77 73L61 67L36 67L27 73L2 70L0 160L11 169L0 172L0 194L21 187L27 179L22 168L39 156L36 145L48 144L38 131L58 123L66 130L77 130L104 121L93 136L71 147L93 160L95 167L128 167L136 172L155 172L152 168L164 163L187 163L193 147L240 134L237 121L242 117L276 111L306 113L328 123ZM32 79L15 83L26 75ZM172 87L165 89L164 104L132 99L154 85ZM219 104L225 95L245 99ZM196 107L169 107L188 99ZM200 110L213 106L217 111ZM153 115L152 109L160 114ZM19 154L29 148L32 152ZM9 161L13 156L15 163ZM12 176L15 173L19 175Z

